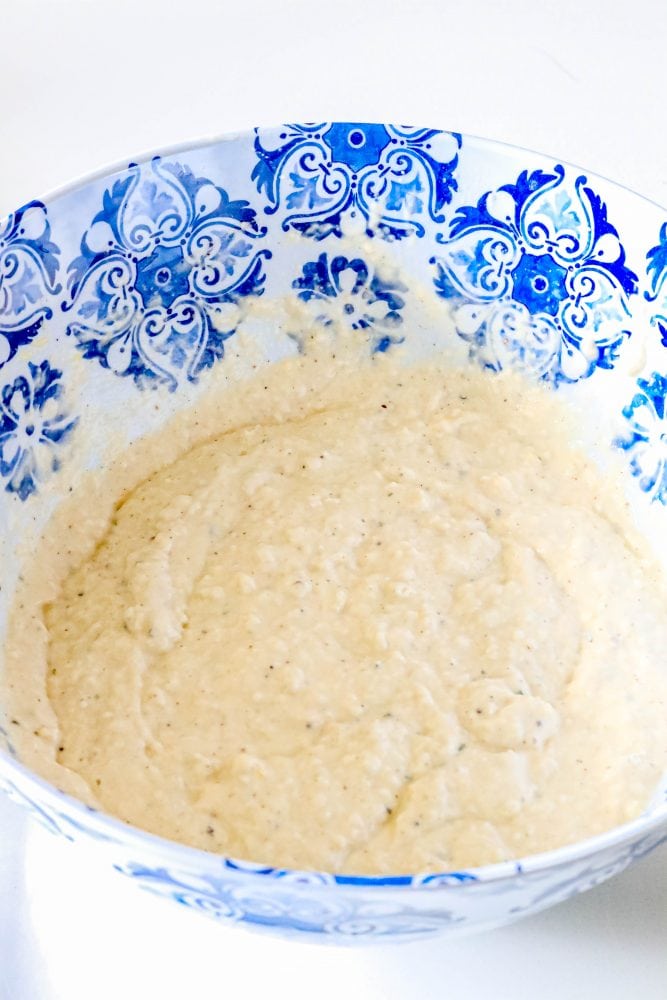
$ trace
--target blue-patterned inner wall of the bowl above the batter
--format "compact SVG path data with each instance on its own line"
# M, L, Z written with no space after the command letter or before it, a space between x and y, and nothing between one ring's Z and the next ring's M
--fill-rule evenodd
M538 154L368 123L165 152L17 210L0 224L0 638L81 473L191 407L231 357L238 379L244 360L303 350L290 301L331 326L332 352L340 323L369 356L400 344L543 381L595 460L614 445L667 559L665 217ZM5 761L11 730L0 705Z

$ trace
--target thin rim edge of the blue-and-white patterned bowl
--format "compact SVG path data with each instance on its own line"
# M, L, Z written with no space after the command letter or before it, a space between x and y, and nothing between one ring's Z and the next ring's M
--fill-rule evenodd
M332 123L346 125L387 124L385 122L359 122L342 119L334 120ZM75 176L64 184L57 185L49 189L41 196L33 198L24 205L10 210L8 214L1 216L0 225L6 222L16 212L28 205L32 205L37 202L45 204L48 207L49 203L67 195L75 194L78 190L81 190L87 185L90 185L97 180L101 180L104 177L111 177L120 171L125 171L130 165L147 163L156 157L161 158L166 156L176 156L179 153L188 153L206 148L208 146L231 143L239 139L253 140L253 137L256 134L256 129L258 128L271 131L277 130L281 127L284 127L281 123L262 124L230 132L215 132L191 139L184 139L177 143L165 144L156 148L143 150L135 157L125 157L123 159L103 164L94 170ZM587 168L582 167L571 160L564 159L563 157L555 156L550 153L543 153L539 150L530 149L529 147L521 146L516 143L510 143L501 139L491 139L485 136L480 136L476 133L457 132L438 126L417 127L433 128L438 132L448 132L450 134L460 136L464 141L472 140L473 142L479 143L481 146L495 148L499 151L507 150L515 155L525 153L531 157L553 160L554 162L569 167L570 169L580 171L585 174L587 178L601 180L605 184L609 184L614 188L620 189L631 195L633 198L637 198L650 205L652 208L657 209L659 212L667 213L667 207L662 205L660 202L657 202L652 198L648 198L646 195L641 194L639 191L636 191L634 188L631 188L620 181L613 180L604 174L598 173L597 171L588 170ZM58 811L58 815L67 821L67 815L60 813L60 809L65 807L73 814L74 817L76 817L76 819L72 822L73 830L79 831L83 835L94 831L98 834L100 841L107 841L108 843L126 843L127 846L134 845L136 843L138 847L142 844L147 844L156 849L162 855L168 854L173 856L174 862L179 863L182 868L189 868L191 870L196 868L201 869L202 861L204 861L206 867L213 864L216 868L220 869L220 866L222 866L223 869L230 875L237 873L238 875L243 875L244 877L262 876L266 878L269 876L274 879L276 876L280 876L281 878L289 877L290 881L302 880L304 883L310 882L312 885L321 889L344 886L350 889L372 889L374 887L384 887L401 890L411 889L414 891L422 888L430 888L432 890L433 887L437 885L446 885L448 888L461 888L464 886L479 885L481 883L488 884L491 882L501 882L521 875L538 874L549 869L557 869L570 863L592 857L605 851L606 849L621 847L634 840L640 834L648 835L656 830L660 830L663 825L663 839L667 840L666 798L664 802L658 804L657 806L650 807L647 811L643 812L635 819L614 826L609 830L603 831L602 833L586 837L582 840L574 841L570 844L565 844L549 851L528 854L508 861L471 866L459 871L428 871L424 873L396 873L391 875L345 875L344 873L323 872L317 869L274 867L269 863L231 858L222 853L207 851L203 848L193 847L189 844L183 844L178 841L170 840L166 837L150 833L147 830L142 830L140 827L118 819L103 810L88 806L83 800L77 799L73 795L62 791L57 787L57 785L54 785L47 779L42 778L35 771L27 767L25 764L22 764L18 758L13 756L10 752L0 748L0 777L3 776L3 773L7 779L12 782L13 787L19 791L21 795L24 795L25 792L22 788L14 784L15 777L18 777L21 786L27 785L28 788L30 786L36 787L41 793L42 800L45 801L47 806L53 806ZM0 788L0 791L2 790L3 789ZM82 822L79 824L77 820L81 820ZM658 846L661 842L662 840L658 840L653 846ZM429 883L431 883L430 886Z

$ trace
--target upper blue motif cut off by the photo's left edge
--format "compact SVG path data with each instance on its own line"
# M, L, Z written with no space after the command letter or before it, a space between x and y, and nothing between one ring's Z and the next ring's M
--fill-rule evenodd
M53 310L59 248L41 201L0 222L0 368L30 343Z

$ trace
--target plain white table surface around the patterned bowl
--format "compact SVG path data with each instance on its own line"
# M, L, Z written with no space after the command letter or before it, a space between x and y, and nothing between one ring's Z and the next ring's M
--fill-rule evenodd
M281 121L440 125L667 205L665 0L0 0L0 215ZM667 211L665 212L667 219ZM667 849L477 936L347 951L139 893L0 801L0 1000L665 1000Z

